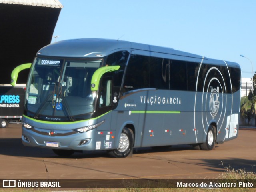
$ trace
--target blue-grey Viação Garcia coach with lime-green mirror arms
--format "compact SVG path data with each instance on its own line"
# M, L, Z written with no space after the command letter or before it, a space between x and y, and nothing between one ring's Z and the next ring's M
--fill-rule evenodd
M62 156L191 144L211 150L238 135L240 66L120 40L50 44L30 68L22 124L26 146Z

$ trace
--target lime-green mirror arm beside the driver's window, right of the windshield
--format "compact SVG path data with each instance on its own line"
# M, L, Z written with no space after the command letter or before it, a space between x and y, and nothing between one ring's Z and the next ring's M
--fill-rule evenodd
M97 91L99 88L100 84L100 78L102 77L103 74L116 71L120 68L119 65L115 66L106 66L106 67L101 67L98 68L94 74L92 75L92 81L91 81L91 91Z

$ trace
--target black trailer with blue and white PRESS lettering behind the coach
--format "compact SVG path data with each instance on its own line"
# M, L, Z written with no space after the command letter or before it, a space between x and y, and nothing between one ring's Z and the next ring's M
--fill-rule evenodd
M21 123L25 99L25 85L0 85L0 128L9 123Z

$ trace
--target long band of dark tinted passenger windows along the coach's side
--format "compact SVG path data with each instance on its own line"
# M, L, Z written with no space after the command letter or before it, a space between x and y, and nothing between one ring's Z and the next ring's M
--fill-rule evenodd
M240 69L133 55L127 66L124 81L125 91L156 88L211 92L211 87L219 87L224 93L238 91Z

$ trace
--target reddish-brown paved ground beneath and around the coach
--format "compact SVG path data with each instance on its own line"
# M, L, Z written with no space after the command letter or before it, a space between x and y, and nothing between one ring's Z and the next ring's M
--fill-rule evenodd
M105 151L61 158L50 149L23 146L21 125L10 124L0 129L0 179L207 179L225 167L256 172L256 129L240 129L237 139L212 151L182 145L133 153L121 159Z

